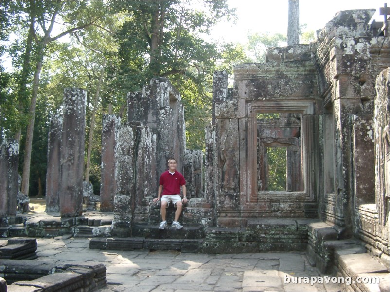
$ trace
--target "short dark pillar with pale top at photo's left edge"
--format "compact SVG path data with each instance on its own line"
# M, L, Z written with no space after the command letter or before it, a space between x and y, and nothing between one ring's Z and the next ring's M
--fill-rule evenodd
M19 141L1 143L1 217L16 216L18 195Z

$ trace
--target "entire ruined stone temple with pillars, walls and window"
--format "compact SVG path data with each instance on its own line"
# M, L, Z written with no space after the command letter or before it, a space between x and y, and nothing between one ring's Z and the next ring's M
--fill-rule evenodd
M126 122L103 117L103 217L82 211L85 92L68 89L74 104L51 122L46 217L16 213L17 142L1 146L1 236L88 236L100 249L306 251L323 272L381 273L389 285L389 20L367 24L374 11L341 11L310 45L236 65L233 88L215 72L204 158L186 149L181 96L167 79L129 93ZM269 113L279 118L261 118ZM268 151L278 147L282 191L268 187ZM183 229L158 230L152 199L171 156L191 199ZM351 267L351 257L372 265Z

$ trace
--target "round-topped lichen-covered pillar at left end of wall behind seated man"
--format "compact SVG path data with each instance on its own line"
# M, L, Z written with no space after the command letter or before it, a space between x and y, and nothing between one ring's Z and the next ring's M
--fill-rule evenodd
M134 210L134 150L135 134L131 126L121 126L115 134L114 220L112 235L131 235L131 218Z

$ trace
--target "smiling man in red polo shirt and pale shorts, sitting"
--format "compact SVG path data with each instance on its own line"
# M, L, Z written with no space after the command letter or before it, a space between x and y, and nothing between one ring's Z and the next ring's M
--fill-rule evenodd
M169 169L163 172L160 176L159 192L157 198L153 199L153 202L157 202L161 198L161 218L159 229L164 229L168 224L166 222L166 208L169 203L172 202L177 207L175 211L175 220L172 222L172 227L177 229L183 228L178 222L181 210L182 202L187 203L187 189L184 176L176 170L177 162L175 158L168 159ZM180 196L180 187L183 190L183 199Z

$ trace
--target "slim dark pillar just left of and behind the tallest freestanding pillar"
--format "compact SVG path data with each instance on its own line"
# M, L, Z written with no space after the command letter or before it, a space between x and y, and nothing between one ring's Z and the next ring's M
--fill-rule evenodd
M50 120L46 173L46 212L60 211L62 116L55 114Z

